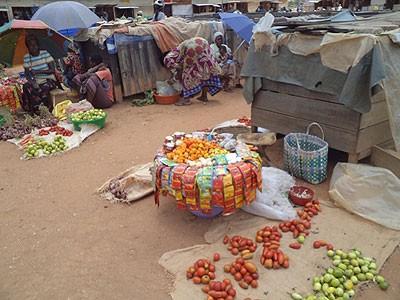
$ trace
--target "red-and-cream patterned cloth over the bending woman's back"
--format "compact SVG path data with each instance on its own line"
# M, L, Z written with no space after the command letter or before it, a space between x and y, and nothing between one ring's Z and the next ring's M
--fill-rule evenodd
M164 58L170 70L182 70L182 85L192 89L202 81L221 74L221 68L211 53L207 40L194 37L182 42Z

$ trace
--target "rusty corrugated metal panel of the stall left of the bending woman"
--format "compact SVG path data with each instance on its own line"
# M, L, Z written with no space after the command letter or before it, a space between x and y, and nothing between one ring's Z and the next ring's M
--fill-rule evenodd
M156 81L169 78L161 64L161 52L151 36L115 35L124 97L155 88Z

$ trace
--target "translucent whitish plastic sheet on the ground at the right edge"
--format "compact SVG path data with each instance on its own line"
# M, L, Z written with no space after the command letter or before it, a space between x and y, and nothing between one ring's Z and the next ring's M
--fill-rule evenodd
M387 169L339 163L333 170L329 197L352 213L400 230L400 179Z

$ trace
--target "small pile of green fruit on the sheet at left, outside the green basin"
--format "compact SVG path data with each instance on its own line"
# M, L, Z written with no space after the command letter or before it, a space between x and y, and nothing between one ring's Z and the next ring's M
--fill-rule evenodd
M68 149L68 145L66 143L67 140L61 135L56 135L51 143L46 142L44 139L30 141L27 143L27 147L25 148L25 156L28 158L33 158L38 157L40 152L42 152L44 155L62 152Z

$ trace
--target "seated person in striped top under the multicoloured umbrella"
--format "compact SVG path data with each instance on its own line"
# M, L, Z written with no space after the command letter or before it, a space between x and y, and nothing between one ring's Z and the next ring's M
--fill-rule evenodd
M25 45L28 48L24 56L27 82L23 86L22 108L33 113L40 104L44 104L51 111L50 91L57 88L54 59L46 50L40 50L34 35L26 36Z

